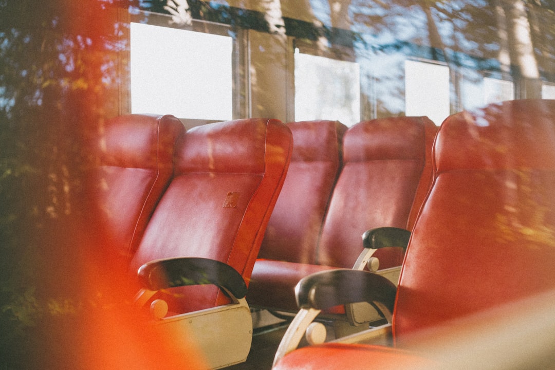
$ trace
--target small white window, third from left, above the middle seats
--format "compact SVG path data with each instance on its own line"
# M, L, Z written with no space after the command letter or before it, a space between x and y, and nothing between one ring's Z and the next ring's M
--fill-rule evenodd
M440 125L450 114L449 67L405 61L405 114L426 115Z

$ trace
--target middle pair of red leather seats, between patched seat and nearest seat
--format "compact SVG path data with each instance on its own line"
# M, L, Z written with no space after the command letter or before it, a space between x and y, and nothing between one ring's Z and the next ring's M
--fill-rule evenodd
M361 236L379 226L412 228L431 183L437 127L426 117L368 120L349 129L336 121L287 125L291 164L254 265L251 307L296 312L302 277L330 268L367 270L369 260L397 283L401 245L365 248ZM329 313L336 323L347 320L346 328L381 318L371 307L347 312Z

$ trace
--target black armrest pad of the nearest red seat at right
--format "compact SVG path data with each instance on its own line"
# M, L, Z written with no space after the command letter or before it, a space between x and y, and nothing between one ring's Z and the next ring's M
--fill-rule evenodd
M368 271L340 269L313 273L295 287L299 308L326 308L356 302L379 302L393 312L397 288Z

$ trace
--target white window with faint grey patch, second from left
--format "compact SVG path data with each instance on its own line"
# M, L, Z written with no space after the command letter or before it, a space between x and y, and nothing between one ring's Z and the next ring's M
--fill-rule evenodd
M360 121L359 64L295 52L295 120Z

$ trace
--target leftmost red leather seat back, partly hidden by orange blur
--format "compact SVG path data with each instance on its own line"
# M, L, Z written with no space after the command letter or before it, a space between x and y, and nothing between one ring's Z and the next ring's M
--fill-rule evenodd
M185 128L171 115L130 114L108 120L90 140L97 161L91 200L98 241L127 263L173 174L173 150Z

